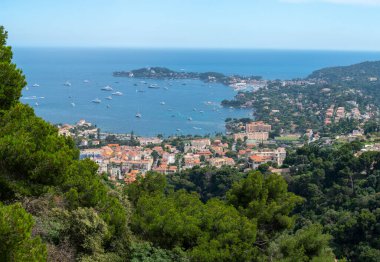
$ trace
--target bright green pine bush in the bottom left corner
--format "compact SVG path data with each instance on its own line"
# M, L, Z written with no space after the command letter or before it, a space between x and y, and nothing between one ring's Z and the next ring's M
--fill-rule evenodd
M46 246L31 236L33 218L20 204L0 203L0 260L44 261Z

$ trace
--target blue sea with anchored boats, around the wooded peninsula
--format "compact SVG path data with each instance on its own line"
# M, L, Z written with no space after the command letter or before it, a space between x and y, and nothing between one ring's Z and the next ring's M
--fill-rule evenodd
M113 77L114 71L161 66L293 79L324 67L380 60L380 52L338 51L18 47L13 52L28 82L21 101L38 116L53 124L85 119L102 132L141 136L223 133L226 118L252 117L252 110L222 108L220 102L236 91L221 84ZM151 84L159 88L148 88ZM101 90L107 85L113 91Z

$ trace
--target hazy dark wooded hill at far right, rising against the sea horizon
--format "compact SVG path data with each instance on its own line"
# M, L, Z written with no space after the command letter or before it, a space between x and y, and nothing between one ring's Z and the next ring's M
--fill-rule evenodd
M323 79L330 84L380 83L380 61L363 62L350 66L329 67L314 71L308 79Z

